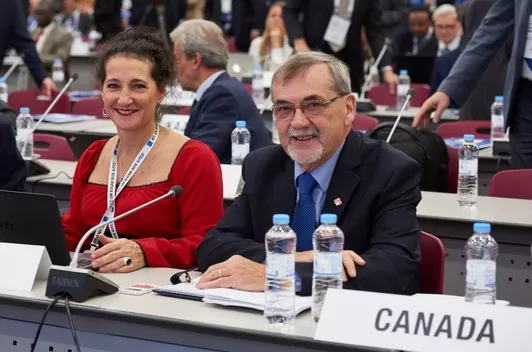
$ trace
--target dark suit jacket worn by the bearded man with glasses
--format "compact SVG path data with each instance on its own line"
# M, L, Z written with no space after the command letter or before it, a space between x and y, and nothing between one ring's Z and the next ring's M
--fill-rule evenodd
M293 214L294 162L281 146L249 154L242 176L241 195L198 248L202 270L233 255L263 262L264 235L272 226L273 214ZM338 215L344 249L366 261L345 288L398 294L418 291L420 176L419 164L389 144L349 133L322 210ZM337 198L342 200L339 206L334 204ZM301 294L310 294L312 264L297 263L296 271L302 278Z

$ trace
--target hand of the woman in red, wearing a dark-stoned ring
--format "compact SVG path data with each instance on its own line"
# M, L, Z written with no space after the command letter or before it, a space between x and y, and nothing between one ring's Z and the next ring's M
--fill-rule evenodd
M114 239L99 235L103 247L92 253L92 267L102 273L129 273L146 266L140 245L124 238Z

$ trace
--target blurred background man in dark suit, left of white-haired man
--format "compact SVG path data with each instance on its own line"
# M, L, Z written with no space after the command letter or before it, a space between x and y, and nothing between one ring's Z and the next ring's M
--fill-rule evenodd
M436 56L438 40L432 29L431 15L427 8L413 8L408 17L410 30L396 37L397 56Z

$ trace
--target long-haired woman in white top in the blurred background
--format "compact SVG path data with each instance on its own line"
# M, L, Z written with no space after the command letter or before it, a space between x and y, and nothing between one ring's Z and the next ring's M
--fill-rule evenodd
M264 33L253 39L249 47L249 55L255 64L261 65L265 71L275 71L293 52L284 27L283 5L280 1L270 6Z

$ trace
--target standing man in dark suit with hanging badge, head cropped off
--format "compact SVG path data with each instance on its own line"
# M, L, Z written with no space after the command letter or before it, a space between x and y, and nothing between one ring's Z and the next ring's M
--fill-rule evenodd
M361 40L362 26L373 52L377 57L384 45L381 28L381 10L377 0L340 0L335 6L333 0L288 0L283 9L286 31L296 52L321 50L345 62L351 74L351 88L360 93L364 83L364 53ZM303 22L300 15L303 14ZM350 21L347 33L334 36L337 40L326 40L329 23ZM342 41L343 38L343 41ZM335 43L336 42L336 43ZM342 42L341 44L338 44ZM391 55L386 53L379 65L383 81L395 92L397 78L393 73Z

